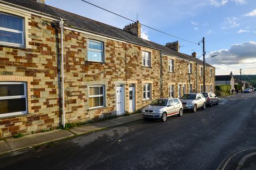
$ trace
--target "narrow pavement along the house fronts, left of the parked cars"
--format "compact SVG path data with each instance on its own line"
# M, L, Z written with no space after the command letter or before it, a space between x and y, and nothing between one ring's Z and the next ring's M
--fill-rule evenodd
M69 137L74 137L75 135L81 135L85 133L95 132L102 129L110 128L113 126L121 125L124 123L129 123L133 121L140 120L142 118L141 114L134 114L130 116L122 116L114 118L112 120L85 124L70 128L68 130L53 130L49 132L35 133L26 135L21 138L10 138L0 141L0 155L7 152L17 151L25 148L31 148L33 146L42 145L43 143L53 142Z

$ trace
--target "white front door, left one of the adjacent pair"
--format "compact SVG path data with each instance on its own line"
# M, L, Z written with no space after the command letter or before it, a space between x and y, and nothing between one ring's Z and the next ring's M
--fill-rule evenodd
M124 86L116 85L116 114L124 113Z

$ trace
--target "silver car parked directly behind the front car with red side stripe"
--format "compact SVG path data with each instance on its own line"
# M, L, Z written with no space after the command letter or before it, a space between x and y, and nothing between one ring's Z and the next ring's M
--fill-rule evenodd
M206 100L203 94L185 94L180 98L183 108L197 111L197 108L206 108Z

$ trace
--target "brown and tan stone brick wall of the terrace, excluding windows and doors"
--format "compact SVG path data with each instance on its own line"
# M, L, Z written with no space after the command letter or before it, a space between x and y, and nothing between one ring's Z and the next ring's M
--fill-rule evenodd
M3 12L25 19L26 47L0 45L0 81L27 82L28 113L0 118L0 139L14 134L41 132L58 128L62 123L60 28L53 19L34 13L19 12L0 4ZM65 109L66 122L82 122L116 113L117 84L124 86L124 108L129 111L129 84L135 86L135 110L161 96L160 56L157 49L142 47L113 38L93 35L84 31L64 30L65 56ZM88 40L104 45L104 63L87 60ZM142 66L142 51L150 52L151 66ZM167 59L174 59L174 72L168 72ZM163 55L163 97L168 97L169 84L193 84L193 91L203 83L199 65L193 63L188 74L187 60ZM206 84L213 84L213 76L206 76ZM197 75L196 75L197 74ZM210 75L210 67L206 68ZM151 84L151 99L143 100L143 84ZM89 109L89 86L105 86L105 107ZM188 91L187 91L188 92Z

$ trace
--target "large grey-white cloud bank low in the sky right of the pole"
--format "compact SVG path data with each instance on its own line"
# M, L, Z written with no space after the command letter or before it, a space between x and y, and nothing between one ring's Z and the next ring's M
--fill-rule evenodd
M217 55L216 58L209 58L207 62L210 64L256 64L256 42L248 41L243 44L235 44L230 49L221 49L211 52L211 55Z

